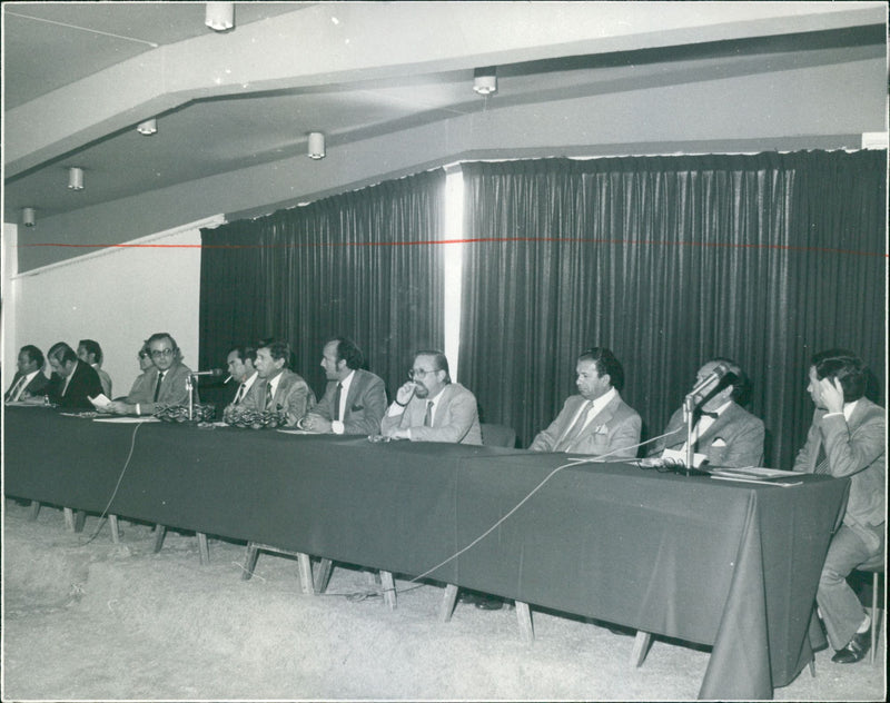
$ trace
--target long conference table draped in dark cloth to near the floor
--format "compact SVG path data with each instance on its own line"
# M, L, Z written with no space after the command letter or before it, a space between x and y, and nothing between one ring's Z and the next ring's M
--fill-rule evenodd
M9 496L101 513L132 448L112 514L415 576L567 459L40 407L8 407L3 440ZM701 699L770 699L812 659L813 600L849 487L800 482L566 467L428 577L711 645Z

